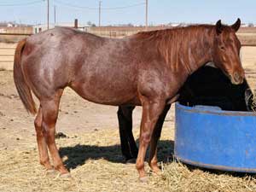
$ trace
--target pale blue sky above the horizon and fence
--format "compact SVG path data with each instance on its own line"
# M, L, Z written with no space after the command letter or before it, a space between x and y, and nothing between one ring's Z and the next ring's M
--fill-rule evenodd
M102 25L127 24L143 25L145 20L144 4L127 9L116 8L144 3L145 0L102 0ZM97 8L97 0L49 0L50 21L54 21L54 5L57 22L86 23L90 20L98 23L97 9L79 9L79 7ZM21 5L33 3L30 5ZM14 6L19 4L19 6ZM66 4L66 5L65 5ZM69 7L67 4L73 5ZM5 6L9 5L9 6ZM46 1L42 0L0 0L0 20L16 20L18 23L46 23ZM148 24L159 25L169 22L211 23L222 19L231 24L241 18L244 23L256 24L256 0L148 0Z

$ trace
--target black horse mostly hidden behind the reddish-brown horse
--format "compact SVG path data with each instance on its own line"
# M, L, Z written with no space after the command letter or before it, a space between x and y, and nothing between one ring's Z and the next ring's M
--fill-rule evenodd
M186 106L218 106L223 110L251 111L253 93L247 81L243 84L231 84L218 68L201 67L193 73L179 91L178 102ZM170 105L160 115L156 126L161 129ZM137 158L137 144L132 134L132 111L135 107L119 107L119 134L122 154L125 160Z

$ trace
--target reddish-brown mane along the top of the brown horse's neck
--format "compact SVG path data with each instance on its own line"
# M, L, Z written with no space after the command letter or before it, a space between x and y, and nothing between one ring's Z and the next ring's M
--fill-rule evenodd
M163 30L138 32L131 36L131 38L143 44L148 44L147 47L154 47L167 63L171 63L174 58L177 59L177 55L188 55L186 51L189 48L200 46L199 44L206 45L207 49L209 42L213 40L214 29L215 26L213 25L173 27Z

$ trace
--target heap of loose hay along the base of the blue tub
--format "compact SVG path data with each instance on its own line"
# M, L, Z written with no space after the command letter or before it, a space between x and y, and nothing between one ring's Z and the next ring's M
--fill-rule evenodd
M166 191L256 191L256 179L253 176L189 169L177 162L165 166L159 183Z

